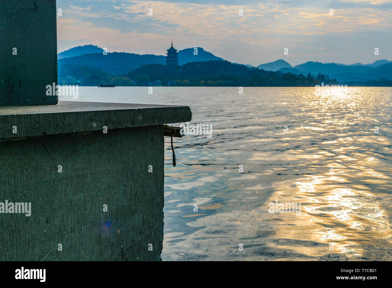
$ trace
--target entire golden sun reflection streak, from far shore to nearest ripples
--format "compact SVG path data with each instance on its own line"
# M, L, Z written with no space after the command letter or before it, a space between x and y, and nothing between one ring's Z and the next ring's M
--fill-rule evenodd
M338 139L323 141L318 147L323 149L321 157L334 155L334 162L329 162L328 166L335 170L328 172L328 168L325 168L323 174L307 175L307 178L298 179L296 188L288 188L287 181L275 183L275 192L266 201L266 204L276 199L282 203L302 203L300 215L272 214L269 219L272 226L276 227L273 238L309 239L309 241L325 244L320 245L319 248L313 246L311 249L298 245L295 251L301 254L312 257L331 255L334 257L334 254L341 254L346 259L351 257L371 259L368 251L369 245L379 250L389 250L387 253L390 253L392 249L390 243L392 230L390 217L386 210L390 205L390 194L382 194L379 191L375 194L371 186L355 183L356 178L361 178L361 183L384 184L389 187L391 184L390 174L385 175L369 167L376 166L371 162L377 163L378 159L365 158L365 154L354 152L360 150L360 146L370 145L368 149L372 149L372 144L384 142L383 144L390 145L390 139L377 135L348 137L350 126L356 125L360 119L366 117L361 114L363 110L355 108L357 102L363 102L361 89L363 88L329 88L322 93L315 92L317 100L312 98L312 101L307 104L319 107L314 115L319 127L301 126L292 129L292 136L287 138L288 141L296 139L296 134L300 133L301 129L318 130L322 133L330 129L330 125L336 125L335 129L342 132L337 134ZM367 101L371 102L372 98L368 97ZM342 113L342 109L347 111ZM295 154L294 150L285 153L302 159L314 157L304 150L301 151L303 153L299 155ZM292 158L286 157L286 159ZM389 172L390 166L388 163ZM385 192L390 192L390 190ZM380 199L383 198L385 200L381 201ZM293 250L292 241L289 244L284 246L279 243L279 248ZM329 249L325 246L329 246Z

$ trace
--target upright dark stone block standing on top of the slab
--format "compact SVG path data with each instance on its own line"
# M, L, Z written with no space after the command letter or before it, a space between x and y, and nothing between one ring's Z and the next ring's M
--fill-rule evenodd
M0 106L56 104L56 0L1 0L0 23Z

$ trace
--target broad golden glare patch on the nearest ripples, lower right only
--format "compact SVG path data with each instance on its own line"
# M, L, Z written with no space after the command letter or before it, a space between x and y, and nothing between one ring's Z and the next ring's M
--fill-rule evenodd
M274 202L279 199L283 203L302 203L300 215L271 215L270 221L276 222L276 238L305 238L325 243L319 249L298 246L297 252L313 257L338 253L344 253L346 257L350 254L360 257L363 248L357 244L367 244L375 238L379 239L380 245L390 245L387 239L392 230L388 214L371 192L331 185L334 182L344 181L334 176L309 176L299 180L296 182L298 187L296 194L285 196L285 193L278 192L268 200ZM293 229L290 223L296 228ZM329 248L326 249L325 246ZM280 245L280 248L283 247Z

